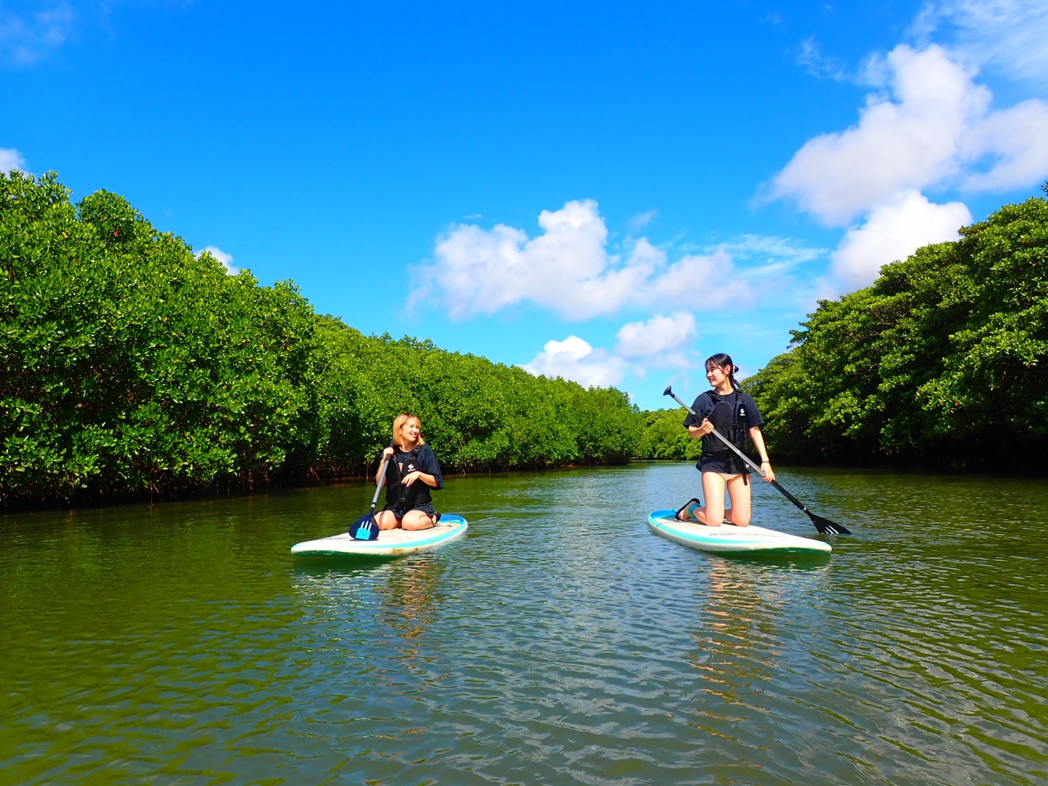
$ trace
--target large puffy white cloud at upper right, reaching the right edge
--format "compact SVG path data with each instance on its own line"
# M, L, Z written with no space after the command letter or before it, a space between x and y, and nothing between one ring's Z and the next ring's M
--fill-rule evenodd
M772 179L770 198L843 225L908 189L1004 190L1048 174L1044 102L990 112L989 90L934 44L900 44L881 65L888 92L867 97L857 125L809 139Z

